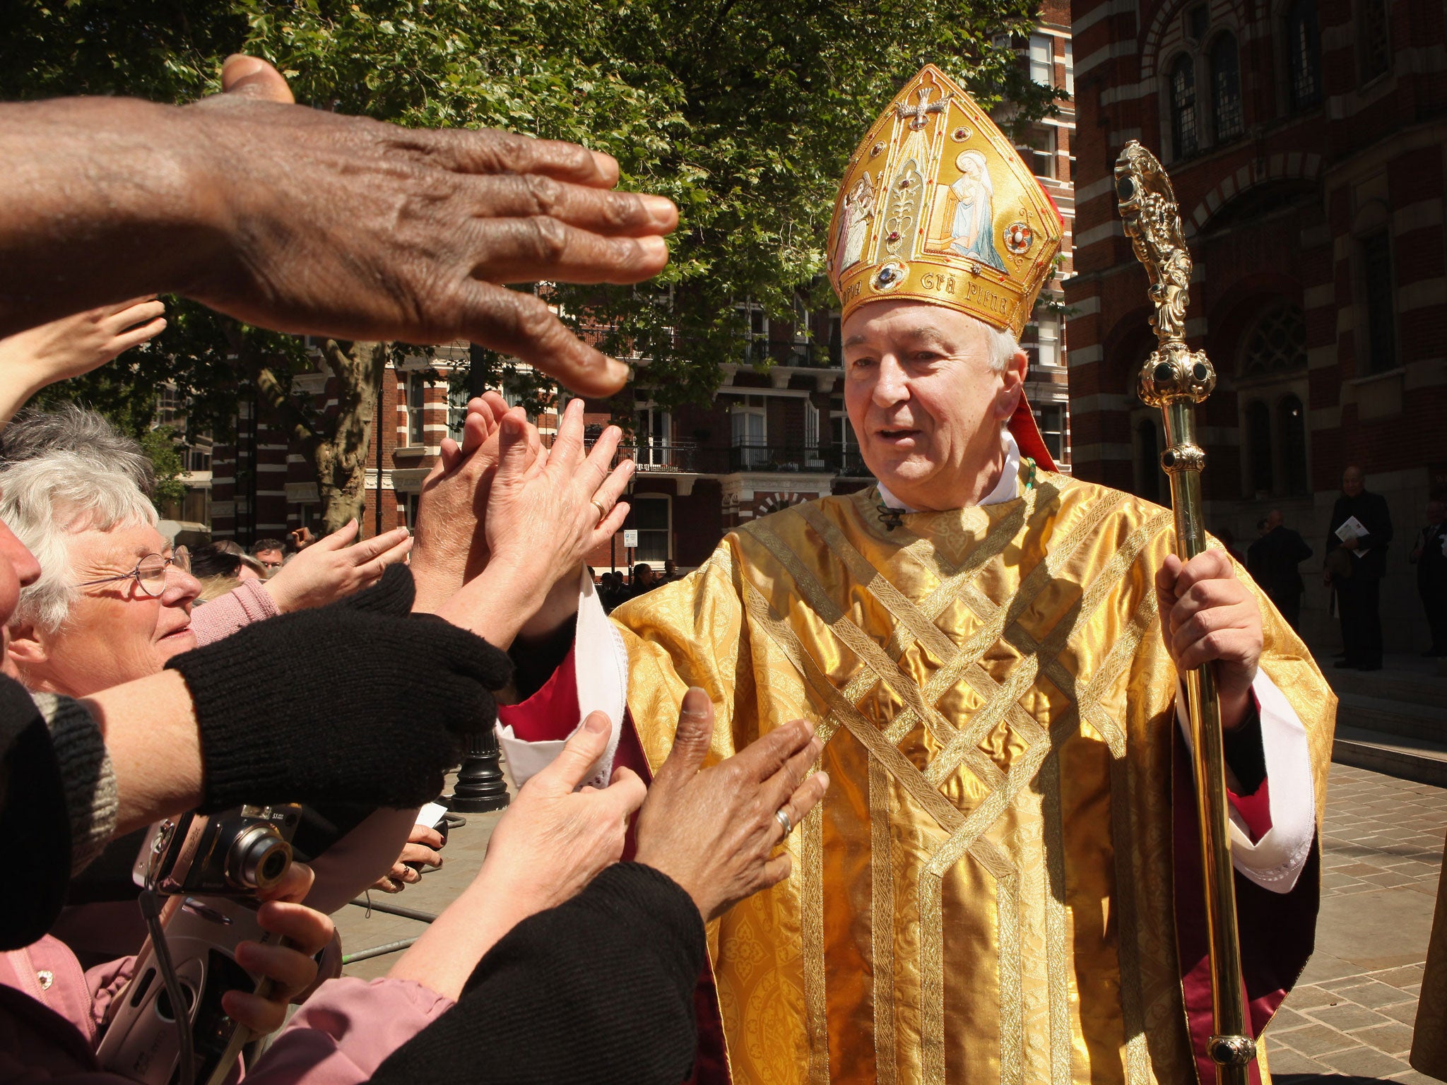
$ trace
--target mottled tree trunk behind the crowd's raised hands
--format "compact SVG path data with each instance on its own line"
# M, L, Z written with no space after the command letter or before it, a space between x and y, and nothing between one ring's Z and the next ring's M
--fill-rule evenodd
M330 534L349 519L362 521L366 502L368 450L391 343L328 339L321 356L337 379L337 414L330 433L317 434L311 461L317 469L323 524ZM381 501L382 495L378 493Z

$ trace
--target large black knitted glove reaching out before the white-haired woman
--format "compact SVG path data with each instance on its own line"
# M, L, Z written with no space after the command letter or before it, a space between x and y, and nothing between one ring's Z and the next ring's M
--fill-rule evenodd
M203 810L240 803L436 799L457 736L492 726L506 654L410 615L412 574L389 566L350 599L247 625L177 655L201 732Z

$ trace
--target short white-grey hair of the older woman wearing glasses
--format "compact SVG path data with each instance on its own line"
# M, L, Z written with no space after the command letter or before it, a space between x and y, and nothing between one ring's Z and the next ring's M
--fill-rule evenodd
M127 441L109 424L107 430L117 441ZM6 433L6 447L9 438ZM67 447L64 438L49 448L30 443L23 459L0 460L0 519L41 564L39 579L20 590L12 624L46 632L65 625L78 595L71 584L72 534L156 525L156 509L133 473L135 460L126 459L143 453L135 441L127 443L129 450L116 446L123 454L119 464L103 459L109 448L78 450Z

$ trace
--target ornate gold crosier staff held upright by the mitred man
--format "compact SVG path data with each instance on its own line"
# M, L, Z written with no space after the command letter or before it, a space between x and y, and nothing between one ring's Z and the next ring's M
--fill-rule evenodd
M1175 514L1175 548L1182 561L1205 550L1201 524L1201 469L1205 451L1195 440L1195 405L1215 388L1215 369L1204 350L1185 344L1185 308L1189 301L1191 253L1181 231L1171 178L1136 140L1116 159L1116 197L1126 220L1126 236L1136 259L1150 276L1156 314L1156 350L1139 378L1140 401L1159 407L1165 420L1166 450L1160 466L1171 477ZM1162 621L1163 621L1162 615ZM1207 1046L1221 1085L1246 1085L1256 1043L1246 1030L1246 997L1242 988L1242 950L1236 937L1236 884L1231 871L1230 814L1226 800L1226 751L1221 739L1221 702L1215 670L1205 664L1187 671L1185 700L1195 749L1195 813L1205 868L1205 926L1211 946L1211 1010L1214 1024Z

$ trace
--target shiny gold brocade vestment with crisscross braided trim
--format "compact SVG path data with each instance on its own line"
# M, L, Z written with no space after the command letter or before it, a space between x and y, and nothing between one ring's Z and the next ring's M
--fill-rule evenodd
M800 716L826 742L793 874L709 927L734 1081L1194 1081L1152 580L1169 511L1024 470L1014 501L894 531L877 502L755 521L614 615L654 770L687 686L718 706L718 758ZM1320 816L1333 700L1262 610Z

